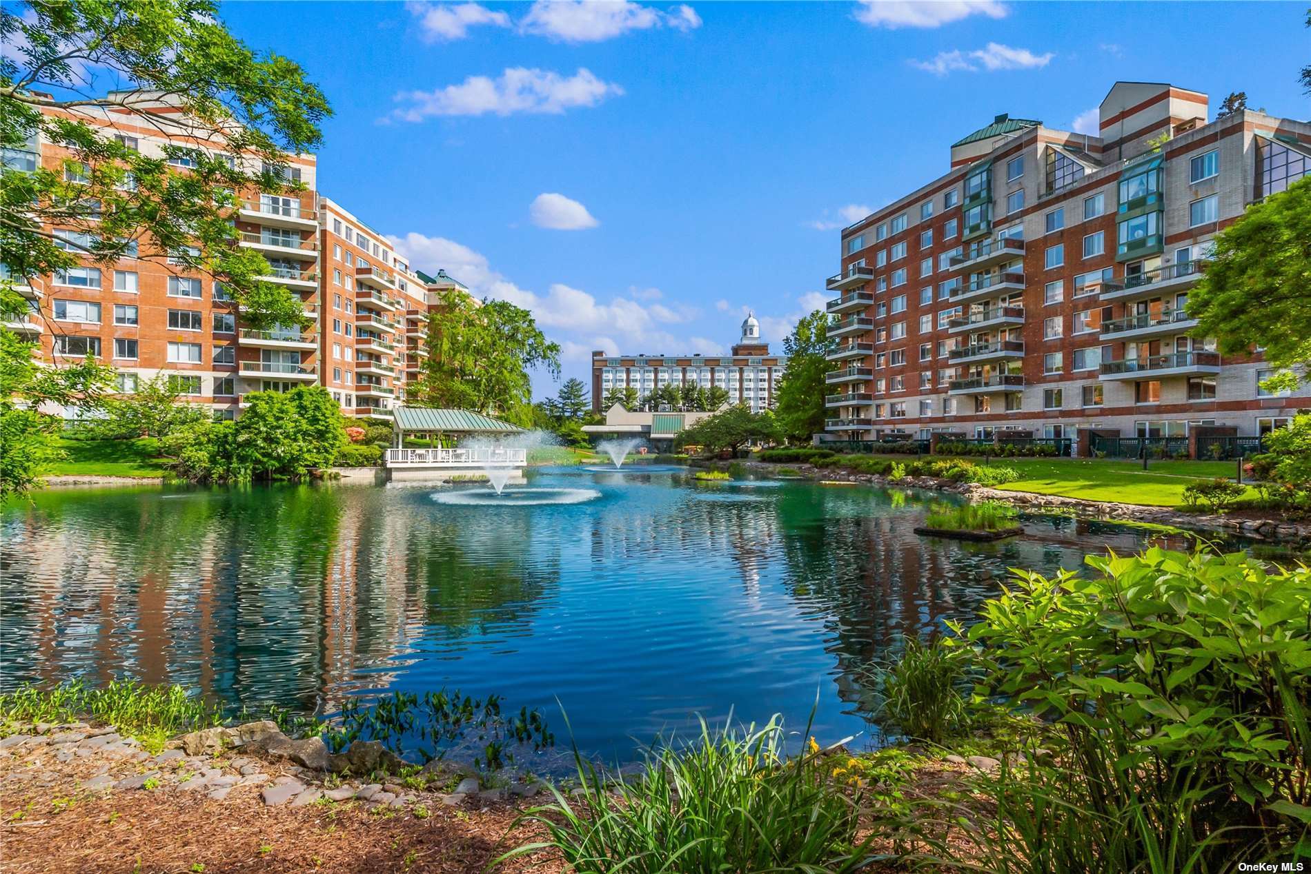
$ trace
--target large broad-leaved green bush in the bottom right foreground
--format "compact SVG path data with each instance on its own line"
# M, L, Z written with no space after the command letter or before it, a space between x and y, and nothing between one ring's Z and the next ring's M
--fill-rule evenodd
M1307 846L1311 569L1236 553L1016 571L968 634L1059 767L983 780L1000 871L1228 870ZM936 846L953 854L960 848Z

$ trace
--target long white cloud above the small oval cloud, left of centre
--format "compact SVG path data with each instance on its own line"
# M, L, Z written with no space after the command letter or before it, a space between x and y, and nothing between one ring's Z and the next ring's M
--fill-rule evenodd
M459 85L435 90L396 94L396 102L409 106L392 111L392 118L421 122L433 115L513 115L514 113L560 114L566 109L595 106L611 96L623 94L615 83L598 79L579 67L565 77L555 71L506 67L499 79L469 76Z

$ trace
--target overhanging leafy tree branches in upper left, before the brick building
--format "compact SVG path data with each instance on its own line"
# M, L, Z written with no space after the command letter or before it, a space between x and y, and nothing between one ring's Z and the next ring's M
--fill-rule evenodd
M7 3L0 41L3 321L46 317L16 287L130 257L208 274L250 326L307 324L232 224L241 194L296 191L287 155L321 143L328 104L300 67L246 47L211 0ZM168 144L139 152L128 127ZM42 405L94 406L110 385L93 359L37 367L37 351L0 329L0 495L26 491L51 455Z

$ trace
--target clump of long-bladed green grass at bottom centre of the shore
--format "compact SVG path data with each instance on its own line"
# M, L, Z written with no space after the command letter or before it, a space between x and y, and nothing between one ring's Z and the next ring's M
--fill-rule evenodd
M690 744L648 751L642 770L616 782L576 751L582 790L519 818L547 832L502 860L555 849L578 871L853 871L869 861L860 839L864 789L843 790L812 742L784 759L777 718L759 730L701 723ZM501 861L501 860L498 860Z

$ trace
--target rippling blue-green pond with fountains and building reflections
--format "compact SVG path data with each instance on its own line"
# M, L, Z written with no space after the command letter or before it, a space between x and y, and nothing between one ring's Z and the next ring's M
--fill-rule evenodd
M534 494L536 490L551 490ZM0 684L180 683L333 712L440 687L541 708L568 748L773 713L876 743L863 666L969 618L1011 567L1127 553L1124 525L1027 516L1000 544L911 529L929 501L687 470L552 468L486 485L98 489L3 516ZM1181 540L1171 542L1183 546Z

